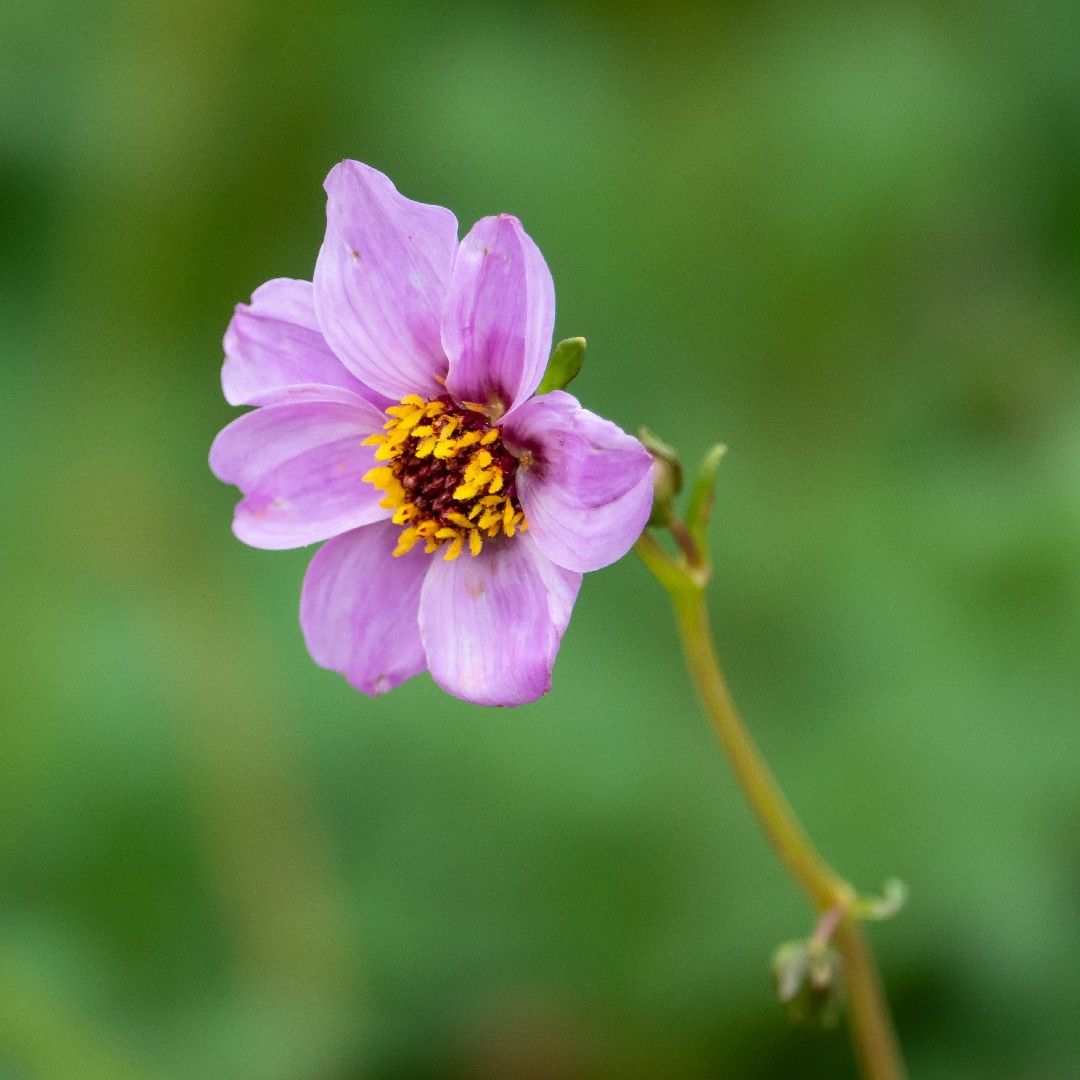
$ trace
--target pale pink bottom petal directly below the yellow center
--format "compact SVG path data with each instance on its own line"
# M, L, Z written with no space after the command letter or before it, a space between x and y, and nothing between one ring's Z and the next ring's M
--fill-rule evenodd
M488 541L475 557L432 556L420 636L435 681L478 705L521 705L551 689L551 669L581 575L530 539Z

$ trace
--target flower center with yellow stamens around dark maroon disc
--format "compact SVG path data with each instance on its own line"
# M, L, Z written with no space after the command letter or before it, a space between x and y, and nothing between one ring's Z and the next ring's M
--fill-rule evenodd
M405 526L395 555L420 540L429 553L447 544L446 559L457 558L465 544L478 555L485 539L528 528L514 481L518 461L481 406L462 407L447 394L430 402L407 394L387 416L386 434L364 440L378 446L375 459L387 463L364 480L386 491L379 505Z

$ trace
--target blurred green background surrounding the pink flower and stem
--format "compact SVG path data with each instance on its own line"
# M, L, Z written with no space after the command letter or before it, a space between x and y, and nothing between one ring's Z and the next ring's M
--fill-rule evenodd
M206 467L345 157L544 252L575 390L731 447L714 624L912 1071L1080 1077L1080 5L14 0L0 1078L851 1078L633 558L555 692L378 701Z

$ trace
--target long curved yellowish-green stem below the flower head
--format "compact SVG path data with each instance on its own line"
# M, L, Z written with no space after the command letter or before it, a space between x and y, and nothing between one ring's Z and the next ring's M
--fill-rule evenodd
M905 1080L903 1058L874 957L855 913L855 890L814 848L735 708L716 660L704 585L707 565L676 561L645 534L637 553L675 605L687 666L747 802L773 850L819 914L840 908L833 934L843 963L848 1026L865 1080ZM685 549L684 549L685 550Z

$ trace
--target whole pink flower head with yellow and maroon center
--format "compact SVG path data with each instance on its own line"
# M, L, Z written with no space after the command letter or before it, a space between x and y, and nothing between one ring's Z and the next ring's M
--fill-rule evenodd
M314 281L239 305L221 383L258 408L214 441L256 548L327 541L308 568L308 649L365 693L431 671L459 698L551 688L584 570L626 553L652 501L637 440L561 390L551 273L521 222L459 244L442 206L343 161Z

